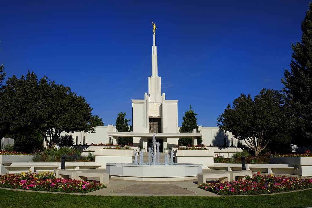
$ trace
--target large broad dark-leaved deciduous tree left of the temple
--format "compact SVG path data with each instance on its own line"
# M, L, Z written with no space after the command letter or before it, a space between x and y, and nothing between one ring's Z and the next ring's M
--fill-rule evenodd
M8 103L4 102L10 132L37 130L47 149L54 148L63 131L94 132L92 108L70 87L58 85L45 76L38 81L37 75L29 71L26 77L13 76L6 83L3 93L10 98Z

